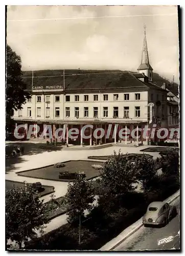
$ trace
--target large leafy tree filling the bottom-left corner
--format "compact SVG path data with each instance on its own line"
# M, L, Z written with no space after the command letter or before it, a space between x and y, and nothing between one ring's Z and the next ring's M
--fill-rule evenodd
M6 239L16 241L21 249L21 243L36 235L34 229L41 231L48 223L46 206L39 200L38 193L32 185L13 187L6 191Z

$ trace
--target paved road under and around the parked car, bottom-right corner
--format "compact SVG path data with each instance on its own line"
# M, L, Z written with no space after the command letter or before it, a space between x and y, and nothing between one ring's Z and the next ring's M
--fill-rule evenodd
M178 215L170 221L165 227L150 228L142 227L138 229L132 236L126 239L114 250L169 250L179 249L180 239L178 231L180 230L179 220L179 197L173 202L178 211ZM158 245L158 240L173 236L173 240L169 243Z

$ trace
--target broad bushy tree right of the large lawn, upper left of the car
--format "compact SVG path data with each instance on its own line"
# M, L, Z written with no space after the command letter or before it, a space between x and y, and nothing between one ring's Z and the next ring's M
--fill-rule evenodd
M114 154L105 163L101 172L101 194L99 204L104 211L109 211L122 200L123 195L134 189L136 182L135 163L125 157L120 151Z

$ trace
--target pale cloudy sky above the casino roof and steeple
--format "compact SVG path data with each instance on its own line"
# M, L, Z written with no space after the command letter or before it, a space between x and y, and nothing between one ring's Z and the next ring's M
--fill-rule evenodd
M144 25L153 72L179 82L176 6L9 6L7 43L22 70L137 71Z

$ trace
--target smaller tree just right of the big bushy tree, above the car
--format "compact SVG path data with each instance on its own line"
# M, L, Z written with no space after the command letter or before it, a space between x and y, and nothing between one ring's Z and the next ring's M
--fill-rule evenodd
M141 156L136 156L134 158L135 164L137 166L136 178L139 181L142 181L143 189L145 193L145 189L147 188L147 184L154 178L157 173L155 169L155 162L152 157L148 157L143 154Z

